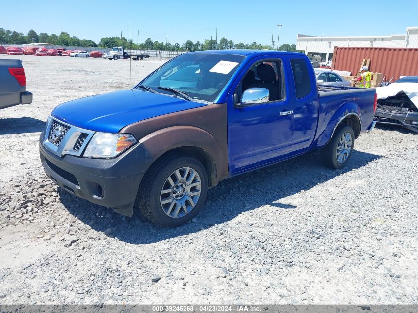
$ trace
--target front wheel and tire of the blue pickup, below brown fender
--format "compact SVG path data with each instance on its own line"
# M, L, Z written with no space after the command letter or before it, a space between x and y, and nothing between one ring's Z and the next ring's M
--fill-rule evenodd
M176 171L181 179L177 179ZM153 164L142 180L138 192L139 209L153 223L177 227L199 213L207 191L208 175L202 163L190 156L168 154ZM194 202L194 207L188 199Z

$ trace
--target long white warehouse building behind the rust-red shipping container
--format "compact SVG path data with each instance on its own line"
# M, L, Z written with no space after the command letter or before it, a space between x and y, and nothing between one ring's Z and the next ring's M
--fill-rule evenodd
M406 34L389 36L317 37L297 35L296 50L305 51L312 60L327 62L334 47L418 48L418 27L408 27Z

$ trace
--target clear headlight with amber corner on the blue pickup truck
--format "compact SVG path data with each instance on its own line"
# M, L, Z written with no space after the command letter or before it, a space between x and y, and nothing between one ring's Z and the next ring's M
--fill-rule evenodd
M87 144L83 156L87 158L113 158L135 143L137 143L137 140L130 134L97 132Z

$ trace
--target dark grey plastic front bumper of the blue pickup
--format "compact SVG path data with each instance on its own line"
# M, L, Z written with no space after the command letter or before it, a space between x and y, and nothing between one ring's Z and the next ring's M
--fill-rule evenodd
M72 155L58 157L41 143L39 151L46 175L64 190L132 216L139 184L144 176L127 174L127 169L133 170L130 173L136 172L132 168L132 153L124 153L115 159L88 159ZM116 176L115 173L122 173L123 176Z

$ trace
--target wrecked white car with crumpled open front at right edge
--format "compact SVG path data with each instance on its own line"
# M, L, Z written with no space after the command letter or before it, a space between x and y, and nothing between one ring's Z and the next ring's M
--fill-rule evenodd
M405 76L388 86L377 87L376 93L375 122L418 133L418 76Z

